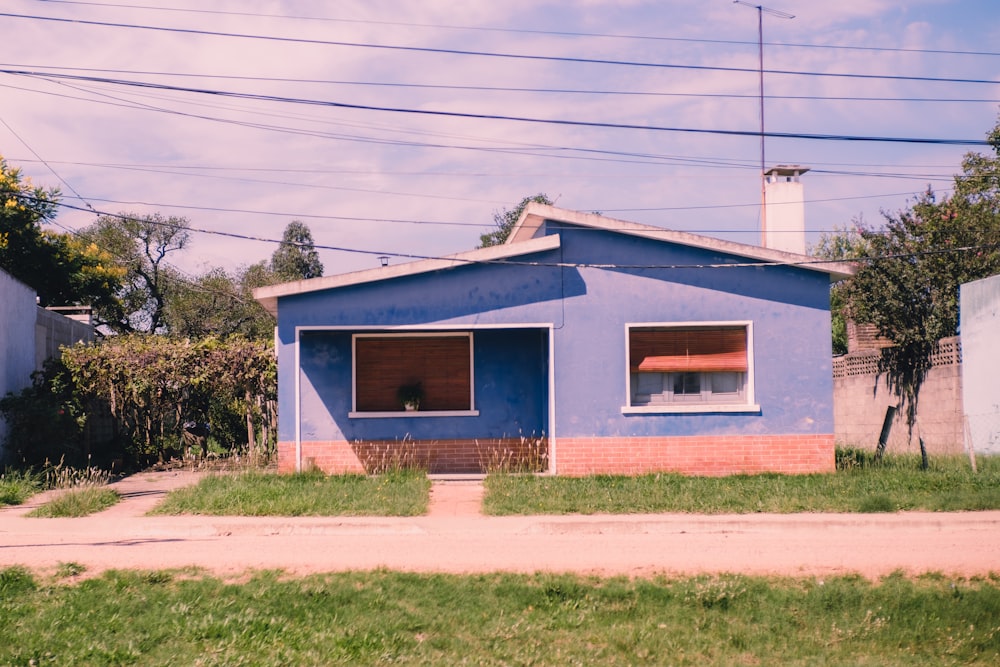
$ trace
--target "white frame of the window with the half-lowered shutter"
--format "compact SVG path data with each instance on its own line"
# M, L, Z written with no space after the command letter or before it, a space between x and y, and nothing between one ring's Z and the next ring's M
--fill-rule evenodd
M746 379L743 383L742 400L736 402L713 402L710 400L710 393L702 390L702 399L692 398L690 401L679 401L671 403L657 403L653 405L632 405L632 371L631 371L631 345L629 333L632 329L691 329L695 327L718 327L733 328L744 327L747 332L747 371ZM753 321L751 320L730 320L730 321L709 321L709 322L627 322L625 324L625 405L622 406L623 414L692 414L705 412L760 412L754 394L754 343L753 343ZM664 373L669 376L671 373ZM701 383L705 384L705 376L710 373L702 373Z

